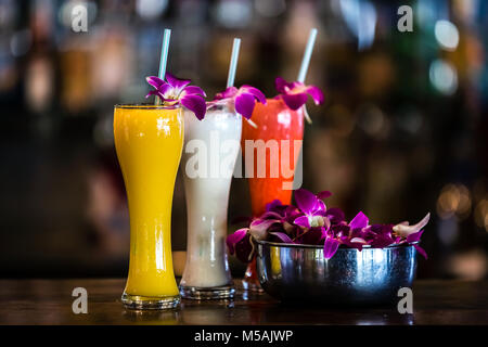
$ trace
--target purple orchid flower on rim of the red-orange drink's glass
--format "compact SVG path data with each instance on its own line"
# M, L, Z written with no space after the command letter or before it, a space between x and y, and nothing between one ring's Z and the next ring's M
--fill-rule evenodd
M281 77L277 77L274 80L274 86L277 87L277 90L286 106L293 111L296 111L305 105L308 95L313 99L316 105L322 104L324 100L322 91L316 86L305 86L298 81L287 82Z

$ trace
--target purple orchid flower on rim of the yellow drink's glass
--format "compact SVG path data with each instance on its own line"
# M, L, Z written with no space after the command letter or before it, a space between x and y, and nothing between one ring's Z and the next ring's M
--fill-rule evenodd
M156 76L145 78L147 83L155 88L145 98L156 95L169 105L181 104L193 112L196 118L202 120L207 111L204 99L206 94L203 89L197 86L189 86L191 80L178 79L169 73L165 77L167 82Z

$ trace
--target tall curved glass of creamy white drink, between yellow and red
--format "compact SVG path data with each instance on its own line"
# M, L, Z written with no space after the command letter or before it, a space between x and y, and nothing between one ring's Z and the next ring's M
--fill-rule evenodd
M193 299L229 298L234 288L226 249L227 209L240 149L241 116L227 105L216 104L203 120L185 112L184 124L188 247L180 293Z

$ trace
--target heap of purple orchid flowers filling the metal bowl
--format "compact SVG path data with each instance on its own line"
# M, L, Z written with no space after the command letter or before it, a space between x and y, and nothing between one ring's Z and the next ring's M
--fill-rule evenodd
M346 222L339 208L328 208L322 201L331 196L328 191L313 194L307 190L295 191L297 207L283 205L275 200L266 205L266 211L255 218L248 228L237 230L227 239L231 254L248 262L254 255L253 239L277 243L323 245L325 259L332 258L341 245L362 250L364 246L384 248L391 245L411 244L427 258L419 246L423 228L429 214L419 223L370 224L369 218L358 213Z

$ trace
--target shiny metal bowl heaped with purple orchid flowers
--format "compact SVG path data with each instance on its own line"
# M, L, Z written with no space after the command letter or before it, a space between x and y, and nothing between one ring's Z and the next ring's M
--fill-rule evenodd
M416 253L429 214L419 223L370 224L360 211L347 221L328 208L328 191L294 192L296 206L273 201L266 211L227 239L230 254L256 257L259 282L283 301L384 305L411 287Z

